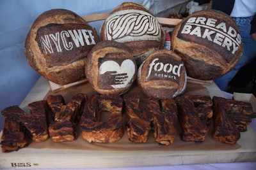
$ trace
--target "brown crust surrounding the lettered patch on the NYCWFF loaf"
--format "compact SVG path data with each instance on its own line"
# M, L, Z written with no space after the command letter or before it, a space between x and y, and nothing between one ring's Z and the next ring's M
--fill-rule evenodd
M38 29L47 30L51 29L52 25L58 25L60 30L54 30L58 32L67 29L66 25L69 25L68 29L70 29L72 24L74 24L74 29L76 28L75 25L78 25L79 29L83 27L84 29L92 30L95 42L99 42L99 37L95 29L76 13L64 9L54 9L42 13L36 18L33 25L31 25L31 29L25 41L25 53L29 65L35 69L35 71L42 74L47 80L59 85L66 85L85 78L84 58L88 55L93 45L84 45L83 50L69 50L68 55L65 55L65 52L56 53L56 55L51 58L47 57L47 55L42 52L40 49L42 47L40 47L40 43L36 41L36 36Z

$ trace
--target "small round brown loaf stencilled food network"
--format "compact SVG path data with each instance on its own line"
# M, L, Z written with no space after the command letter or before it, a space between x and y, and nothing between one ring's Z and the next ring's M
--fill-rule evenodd
M157 50L138 69L138 85L148 97L172 99L186 89L186 68L179 55Z

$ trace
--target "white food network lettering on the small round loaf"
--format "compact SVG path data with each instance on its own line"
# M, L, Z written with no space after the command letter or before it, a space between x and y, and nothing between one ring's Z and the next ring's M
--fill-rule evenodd
M180 77L180 70L183 67L184 64L174 65L171 63L163 63L163 62L156 62L159 58L156 58L152 60L152 62L149 64L148 68L148 75L146 77L146 80L152 76L158 76L163 78L172 78L174 80L177 80L177 76ZM152 70L154 71L153 74Z

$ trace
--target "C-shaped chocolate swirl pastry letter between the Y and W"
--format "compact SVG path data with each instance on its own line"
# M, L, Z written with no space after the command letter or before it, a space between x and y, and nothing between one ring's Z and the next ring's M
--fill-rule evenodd
M119 96L95 94L88 99L81 117L84 140L89 143L114 143L122 138L123 100ZM103 111L109 111L108 121L100 121Z

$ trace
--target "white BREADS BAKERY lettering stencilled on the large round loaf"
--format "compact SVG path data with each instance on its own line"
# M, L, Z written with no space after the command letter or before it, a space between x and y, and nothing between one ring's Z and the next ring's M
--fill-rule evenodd
M238 30L228 22L217 18L188 18L186 22L182 23L177 37L211 46L212 49L222 52L222 56L225 56L227 62L230 62L241 45L241 36ZM220 47L223 50L220 50Z

